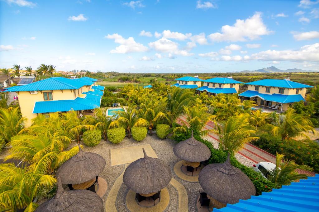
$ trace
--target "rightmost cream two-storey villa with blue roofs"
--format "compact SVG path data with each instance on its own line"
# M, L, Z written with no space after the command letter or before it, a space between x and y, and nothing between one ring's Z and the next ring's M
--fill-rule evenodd
M248 90L238 94L241 100L253 100L259 106L286 111L294 102L305 101L306 88L313 86L288 79L262 79L245 83Z

